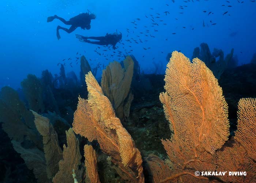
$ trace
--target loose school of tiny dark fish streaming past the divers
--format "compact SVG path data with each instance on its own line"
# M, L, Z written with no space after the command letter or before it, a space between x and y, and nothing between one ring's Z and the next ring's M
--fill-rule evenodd
M185 13L185 9L188 7L189 3L196 3L196 1L200 2L200 1L208 1L208 0L184 0L182 1L182 3L184 3L184 5L178 5L178 8L181 9L181 12L179 12L179 14L184 14ZM256 3L256 0L249 0L252 3ZM177 1L176 0L171 0L172 4L178 4L177 2L181 3L181 1ZM229 13L229 8L232 8L233 5L231 5L230 1L223 1L224 3L221 5L222 7L227 7L226 11L222 12L222 16L231 16L231 14ZM241 1L241 0L237 0L237 3L244 3L245 1ZM234 1L232 1L232 4L234 4ZM170 7L169 4L165 4L166 7ZM149 15L145 15L144 18L148 19L150 23L143 25L144 30L140 31L138 35L135 35L135 29L138 30L139 27L139 22L142 18L136 18L134 20L132 20L130 23L132 24L133 28L126 28L126 38L125 38L125 43L121 43L121 46L116 46L117 50L113 50L112 49L112 45L110 46L97 46L94 50L95 53L97 53L99 56L104 57L105 60L109 61L109 60L114 60L114 58L116 58L115 60L120 61L121 59L123 59L122 57L126 57L127 55L131 54L133 52L132 46L129 45L129 43L136 43L136 44L140 44L140 43L144 43L144 42L148 42L150 41L150 39L154 39L156 36L154 35L154 33L157 33L157 27L158 26L166 26L167 24L164 23L164 20L162 20L162 16L168 16L170 14L170 10L166 10L163 12L154 12L155 9L154 8L149 8L152 11L152 14ZM214 14L213 11L207 11L207 10L203 10L202 11L203 14L207 14L208 16L211 16L212 14ZM174 18L175 20L178 20L178 18ZM210 27L210 26L215 26L217 23L214 22L213 20L210 20L209 22L205 22L204 20L202 20L203 27ZM182 28L186 29L187 26L182 26ZM189 27L191 30L194 30L195 27L190 26ZM172 35L176 35L176 32L171 32L170 34ZM124 39L124 36L123 36ZM167 41L168 38L165 39L165 41ZM144 51L148 51L150 50L151 47L143 47L142 46L142 50ZM178 52L181 52L181 50L178 50ZM86 53L86 51L84 50L84 53ZM161 53L163 54L164 52L161 51ZM240 52L242 54L242 52ZM76 56L73 58L65 58L62 60L62 62L64 62L64 66L66 64L66 61L69 62L69 65L71 67L73 63L78 64L79 61L79 57L81 56L82 53L77 52ZM146 54L143 54L143 58L145 57ZM89 59L90 61L92 61L91 59ZM94 62L98 60L98 59L94 59ZM152 58L152 60L154 60L154 58ZM57 64L57 66L59 66L61 64L61 62L59 62ZM102 65L100 62L97 62L97 68L101 69L105 69L104 64Z

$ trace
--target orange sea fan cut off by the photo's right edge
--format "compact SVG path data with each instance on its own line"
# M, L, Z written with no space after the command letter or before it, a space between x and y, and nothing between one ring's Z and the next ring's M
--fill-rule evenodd
M232 144L217 152L217 171L246 171L246 176L222 176L225 182L256 182L256 99L240 99L237 123Z

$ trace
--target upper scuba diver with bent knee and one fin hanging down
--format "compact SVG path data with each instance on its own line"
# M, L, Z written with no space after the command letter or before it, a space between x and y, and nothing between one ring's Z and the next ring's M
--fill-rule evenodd
M57 15L49 16L47 18L47 22L52 22L54 19L59 19L64 24L71 25L71 27L69 29L61 27L61 26L57 26L57 38L59 40L60 39L59 30L60 29L66 31L67 33L72 33L78 27L81 27L82 29L86 28L87 30L89 30L91 28L91 25L90 25L91 20L95 19L95 15L89 14L89 10L88 10L88 13L79 14L79 15L69 19L68 21L66 21L64 18L61 18Z

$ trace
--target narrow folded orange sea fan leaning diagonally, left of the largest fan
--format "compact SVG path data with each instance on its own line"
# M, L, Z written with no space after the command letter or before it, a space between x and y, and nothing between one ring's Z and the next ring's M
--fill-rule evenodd
M89 141L97 140L124 180L144 182L140 152L91 72L86 75L86 84L88 100L79 97L73 122L75 133Z

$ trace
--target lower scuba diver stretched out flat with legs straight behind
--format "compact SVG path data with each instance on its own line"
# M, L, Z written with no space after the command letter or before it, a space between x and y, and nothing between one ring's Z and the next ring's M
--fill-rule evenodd
M91 43L94 45L112 45L113 49L116 49L116 43L120 42L122 39L122 33L117 34L106 34L105 36L99 36L99 37L84 37L82 35L78 35L76 34L76 38L79 39L79 41L81 42L86 42L86 43ZM98 41L90 41L88 39L94 39L94 40L98 40Z

